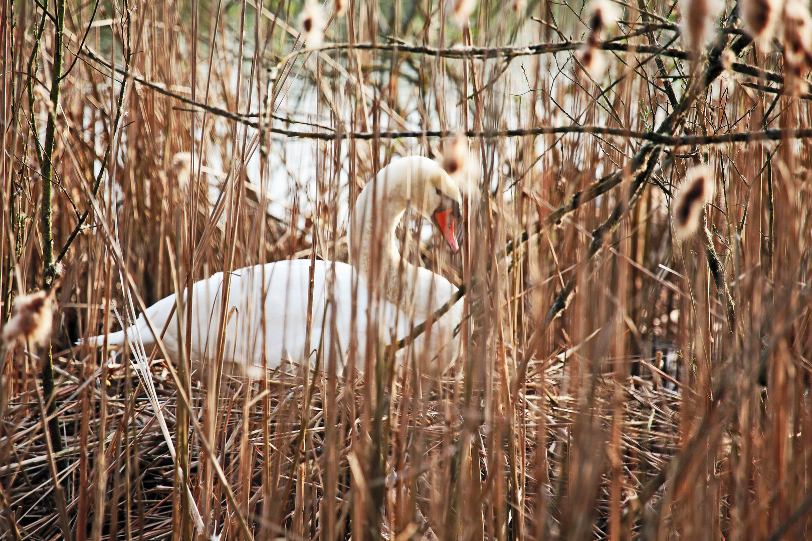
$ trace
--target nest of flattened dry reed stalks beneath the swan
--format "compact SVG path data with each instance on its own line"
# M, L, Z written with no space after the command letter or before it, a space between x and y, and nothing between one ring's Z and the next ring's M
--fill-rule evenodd
M29 388L28 392L17 394L7 402L0 439L3 449L10 451L6 457L13 457L6 460L0 470L4 507L6 513L14 517L19 534L28 539L50 539L58 535L63 519L60 508L64 507L71 529L84 526L89 534L101 532L102 539L114 539L125 532L143 535L146 539L169 539L176 535L179 526L173 517L177 516L177 506L183 505L183 497L179 496L175 485L177 462L149 395L136 373L138 368L134 365L127 367L127 363L99 368L101 377L96 381L102 384L90 385L81 384L80 380L68 375L86 370L86 365L83 367L76 359L71 360L69 354L55 360L65 370L65 379L56 395L61 405L59 415L64 449L55 454L48 453L42 430L41 401L37 400L41 397L30 389L33 380L26 381L31 366L6 369L6 382L11 389ZM519 417L542 416L546 419L544 433L525 423L516 427L520 430L518 434L511 434L503 423L482 417L477 419L477 414L461 412L459 405L465 389L460 385L459 377L412 379L414 374L404 371L395 380L391 392L387 392L387 412L379 419L384 426L382 430L387 432L384 435L387 447L382 451L379 449L379 456L385 462L382 468L387 473L381 479L370 479L377 486L367 489L383 491L387 495L384 496L387 505L395 506L399 503L395 496L399 487L412 487L410 497L414 500L415 517L421 519L414 534L429 539L442 539L447 535L443 513L439 512L442 505L438 507L438 502L447 497L449 488L443 485L442 479L449 468L459 468L456 462L460 461L466 448L466 453L471 453L468 459L477 457L479 462L475 470L479 470L480 479L476 482L469 479L479 487L495 483L495 475L509 473L505 479L519 481L522 484L520 493L533 494L538 492L538 477L541 475L545 490L550 492L548 497L565 497L568 476L574 471L569 462L573 459L585 464L591 462L590 454L579 457L578 453L573 453L572 445L577 438L573 427L578 425L577 418L591 418L590 424L598 428L591 435L598 440L592 443L603 446L607 443L607 427L617 414L612 400L614 375L611 372L593 379L593 396L589 405L583 403L584 397L562 391L566 380L564 366L583 360L575 353L570 358L554 359L552 363L533 363L530 370L538 384L525 385L520 393L516 393L517 401L511 405L514 408L512 414L516 415L515 410L525 410L525 414ZM662 469L679 449L677 435L681 401L679 382L674 377L675 366L664 363L662 355L639 366L645 375L628 380L625 387L628 398L620 409L624 418L623 447L627 449L624 470L632 479L648 478ZM162 361L153 364L151 379L166 427L173 436L173 444L177 444L177 388ZM218 397L214 426L218 460L227 479L233 482L232 486L240 487L240 494L248 498L248 509L251 510L248 519L254 530L261 529L262 518L274 517L274 522L288 528L299 522L304 533L316 535L323 520L324 479L329 473L335 476L333 489L337 499L334 510L339 531L343 531L344 536L352 535L347 506L352 495L357 495L353 482L353 463L357 457L350 449L357 438L374 439L364 431L364 425L369 424L369 418L365 416L369 397L365 396L363 389L369 382L363 376L353 382L339 379L331 397L338 405L338 414L335 431L329 436L325 419L326 384L323 375L307 381L300 376L287 376L274 380L267 387L260 383L248 387L244 381L235 381L228 388L231 393L221 393ZM412 389L415 385L422 387L419 402L415 401L415 389ZM205 411L207 394L201 382L195 380L191 389L192 396L197 397L192 401L195 411ZM304 412L307 416L303 426L300 397L309 393L310 404ZM88 410L90 398L93 399L93 408ZM472 406L482 415L484 405L477 402ZM257 408L257 404L263 408ZM503 413L511 414L509 411ZM372 417L375 418L375 414ZM83 429L88 426L106 427L102 432L104 437L95 430ZM186 432L188 475L197 499L201 496L201 482L206 474L206 452L188 424ZM486 460L487 454L494 450L488 449L490 444L486 442L494 438L502 441L504 449L512 448L515 453L506 455L508 462L501 466L505 469L501 473L493 471L498 466ZM331 472L325 470L328 439L334 453L338 453L335 470ZM543 462L538 462L540 448L549 450ZM274 453L273 458L266 455L269 451ZM516 471L516 464L511 463L518 455L525 457L522 471ZM105 457L103 466L100 466L99 456ZM60 496L54 492L50 458L62 472ZM292 464L296 464L296 468L292 468ZM271 474L275 483L270 491L264 485L269 479L269 467L275 470ZM210 476L210 466L208 468ZM87 480L83 481L85 476ZM596 487L599 494L598 506L594 509L596 535L601 531L605 533L607 525L610 476L609 471L604 472L601 475L603 480ZM103 487L100 487L99 479L102 479ZM102 497L110 511L104 513L104 518L98 522L93 509L100 492L103 492ZM269 492L272 495L270 500L267 497ZM505 492L504 496L507 497L508 493ZM210 513L215 522L235 528L234 521L229 520L227 497L218 491L213 496ZM58 503L60 497L62 503ZM567 517L562 513L559 517L551 517L551 522L565 519ZM382 535L389 537L392 534L384 528Z

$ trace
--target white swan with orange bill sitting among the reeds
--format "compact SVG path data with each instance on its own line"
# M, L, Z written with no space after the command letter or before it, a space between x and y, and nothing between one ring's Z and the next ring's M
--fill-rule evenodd
M455 221L460 215L460 201L456 183L428 158L401 158L380 170L361 191L350 217L352 265L316 261L312 330L307 348L310 261L284 260L233 271L224 371L251 372L258 376L263 353L271 369L278 367L283 359L304 363L309 357L312 364L313 352L320 346L324 354L338 354L340 363L348 354L353 331L356 333L353 348L357 353L356 367L363 369L369 322L378 328L381 343L387 344L392 338L407 336L412 324L420 324L456 293L456 287L445 278L401 258L395 227L404 211L411 205L421 216L432 219L451 250L456 251ZM198 281L192 291L190 357L195 362L213 362L217 359L222 273ZM158 332L173 307L175 294L146 309ZM176 318L172 316L162 338L173 361L179 359ZM458 302L417 338L414 343L420 355L417 359L428 356L440 367L445 366L456 352L454 328L461 319L462 303ZM335 333L331 332L333 328ZM87 343L101 346L103 340L104 335L100 335L90 337ZM114 349L123 346L125 340L140 340L147 347L155 345L144 314L126 330L107 335L108 344Z

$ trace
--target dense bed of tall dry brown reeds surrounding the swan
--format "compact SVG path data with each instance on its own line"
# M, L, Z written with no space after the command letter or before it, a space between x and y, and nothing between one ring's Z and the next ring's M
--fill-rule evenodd
M808 12L6 2L0 539L812 538ZM465 288L451 367L76 346L346 261L410 154L465 187L460 254L399 239Z

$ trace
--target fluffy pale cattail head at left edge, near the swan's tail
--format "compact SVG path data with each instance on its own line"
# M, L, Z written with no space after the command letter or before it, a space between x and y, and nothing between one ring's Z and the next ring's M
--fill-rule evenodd
M39 290L15 298L11 319L2 329L6 342L23 340L29 346L41 346L50 337L54 323L54 296L58 279L50 290Z

